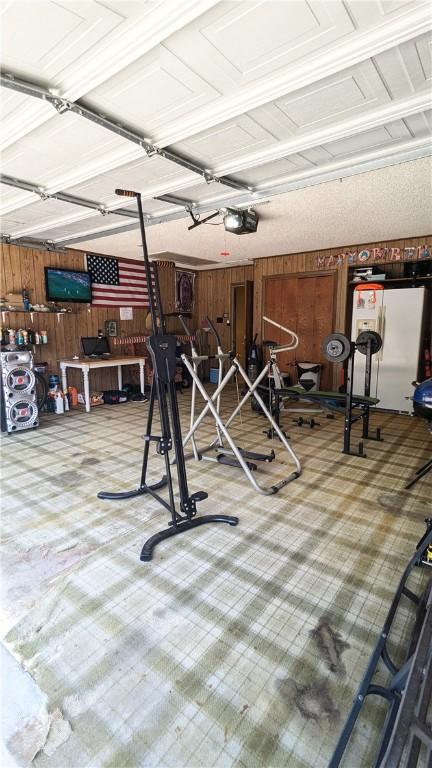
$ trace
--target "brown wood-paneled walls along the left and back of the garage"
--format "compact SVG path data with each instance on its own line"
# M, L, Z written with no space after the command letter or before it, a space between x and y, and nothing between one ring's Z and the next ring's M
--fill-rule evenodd
M244 283L246 280L254 282L254 313L253 331L258 333L261 339L262 314L263 314L263 281L266 277L288 274L308 274L325 270L335 270L335 331L346 330L346 308L348 293L348 269L347 261L344 263L325 266L318 263L318 256L325 259L330 256L338 256L341 252L381 248L410 248L422 244L431 243L432 236L420 238L407 238L404 240L386 241L380 243L361 243L357 245L340 246L323 251L310 251L305 253L289 254L285 256L273 256L256 259L253 264L225 269L205 270L197 273L195 281L195 306L193 317L187 319L191 328L199 328L202 320L209 315L213 320L217 317L228 315L231 319L231 291L232 286ZM2 245L0 253L1 294L4 296L10 292L21 292L27 288L30 292L32 303L45 303L44 267L58 266L65 269L84 269L84 256L82 251L68 250L65 253L53 253L24 248L16 245ZM390 261L390 256L383 261ZM395 263L394 268L401 269L401 265ZM160 271L161 293L164 306L170 310L173 304L174 283L171 270L166 273ZM50 373L58 372L58 361L77 354L81 336L94 336L99 329L104 328L105 320L116 320L119 336L129 336L145 333L145 319L147 310L134 308L133 320L120 320L119 309L89 308L84 304L74 304L72 313L64 314L58 319L55 314L35 314L34 322L30 322L30 316L25 313L10 313L7 316L6 325L10 328L29 328L35 330L47 330L48 344L40 346L36 355L39 361L48 363ZM267 310L268 311L268 310ZM231 326L226 322L218 325L224 349L231 348ZM173 333L183 333L176 317L167 318L167 329ZM116 348L120 350L123 348ZM133 352L132 349L125 352ZM75 375L78 384L79 374L71 371L71 381ZM107 389L116 387L115 371L95 371L92 384L94 389Z

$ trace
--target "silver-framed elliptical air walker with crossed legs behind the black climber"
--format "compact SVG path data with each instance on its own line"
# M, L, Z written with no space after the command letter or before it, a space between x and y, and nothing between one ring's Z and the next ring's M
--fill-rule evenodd
M181 322L183 325L183 328L187 333L190 335L190 332L183 321L182 318ZM274 421L271 413L267 409L265 403L263 402L260 394L259 394L259 386L261 384L261 381L265 378L265 376L268 375L271 364L270 362L267 363L267 365L263 368L261 373L257 376L254 382L251 382L246 371L240 364L237 357L232 356L228 353L224 353L221 347L221 342L219 338L219 334L211 322L209 318L207 318L208 328L211 331L211 333L214 335L216 339L216 348L217 352L215 355L215 359L218 360L218 383L216 386L215 392L210 396L200 378L198 375L198 367L203 360L207 360L207 356L198 355L194 346L194 342L191 342L191 357L190 360L186 355L182 355L182 361L184 365L186 366L187 370L189 371L191 377L192 377L192 398L191 398L191 419L190 419L190 429L187 433L186 437L183 440L183 448L186 447L186 445L190 442L192 446L192 455L193 457L200 461L202 459L206 459L207 461L217 461L220 464L228 464L230 466L239 467L243 470L244 474L246 475L247 479L251 483L251 485L255 488L258 493L262 493L264 495L270 495L273 493L277 493L281 488L283 488L285 485L290 483L292 480L295 480L297 477L301 474L301 466L300 462L295 455L294 451L292 450L291 446L288 443L288 440L286 439L285 435L283 434L282 430L278 427L276 422ZM286 330L289 334L291 334L292 341L285 347L284 349L295 349L295 347L298 344L298 338L295 334L293 334L288 329ZM224 363L229 360L230 366L228 371L223 373L223 367ZM221 401L221 394L227 384L231 381L234 375L239 374L244 382L244 389L243 392L245 394L243 395L242 399L238 403L237 407L234 409L234 411L231 413L229 418L226 422L222 421L221 415L220 415L220 401ZM205 401L205 405L201 413L198 417L195 418L195 406L196 406L196 393L197 391L201 394ZM233 420L236 418L236 416L240 413L241 409L245 405L245 403L251 398L255 397L255 399L258 401L263 414L267 417L269 420L272 429L274 429L275 434L279 438L279 440L282 442L284 448L286 449L287 453L291 457L291 459L294 461L295 464L295 470L290 473L290 475L280 480L278 483L274 483L273 485L264 487L260 485L255 477L253 476L253 472L256 471L257 465L254 462L271 462L275 458L275 453L272 451L270 454L261 454L261 453L255 453L251 451L245 451L242 448L239 448L232 435L228 431L228 427L233 422ZM201 422L203 421L204 417L211 413L215 420L215 427L216 427L216 436L212 442L207 445L206 447L199 449L195 440L195 433L197 429L199 428ZM224 443L225 441L225 443ZM211 451L216 450L215 456L207 456L206 454Z

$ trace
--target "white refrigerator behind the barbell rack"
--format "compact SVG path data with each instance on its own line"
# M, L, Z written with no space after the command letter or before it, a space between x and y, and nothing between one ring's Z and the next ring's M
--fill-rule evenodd
M379 399L379 408L412 413L409 398L421 354L425 289L383 288L354 291L351 339L355 341L363 330L378 331L383 345L372 357L371 397ZM366 355L357 352L356 394L364 391L365 363Z

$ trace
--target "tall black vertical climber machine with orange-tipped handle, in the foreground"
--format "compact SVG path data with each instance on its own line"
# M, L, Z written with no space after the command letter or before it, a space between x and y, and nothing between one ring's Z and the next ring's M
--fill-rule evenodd
M141 560L151 560L154 547L164 539L176 536L183 531L189 531L204 523L228 523L237 525L238 518L229 515L203 515L196 517L196 505L199 501L204 501L208 494L204 491L189 494L185 458L183 453L183 442L180 426L180 416L177 403L177 392L175 387L176 374L176 338L166 333L165 316L162 309L162 301L159 289L159 279L157 270L154 270L153 276L150 269L148 258L147 241L144 228L144 217L141 205L141 195L139 192L130 192L123 189L116 189L117 195L126 197L135 197L137 200L139 222L141 229L141 238L144 255L144 265L148 285L148 295L150 302L150 315L152 320L152 334L148 337L146 344L153 363L153 382L150 393L149 409L147 416L147 428L144 435L144 455L141 470L141 480L138 488L133 491L124 491L119 493L109 493L101 491L98 493L99 499L131 499L135 496L149 494L159 502L171 515L168 527L159 533L151 536L144 544L141 551ZM158 401L161 434L152 434L153 412L155 400ZM149 485L147 483L147 469L149 463L150 443L156 443L156 452L165 459L166 474L159 482ZM173 478L171 473L171 462L169 453L174 447L176 458L177 479L179 486L180 505L179 510L174 498ZM168 485L169 500L163 499L157 490Z

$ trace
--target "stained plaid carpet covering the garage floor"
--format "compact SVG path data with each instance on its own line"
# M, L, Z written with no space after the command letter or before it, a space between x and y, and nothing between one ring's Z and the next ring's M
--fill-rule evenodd
M179 401L186 429L188 393ZM96 494L138 485L146 413L101 406L3 436L6 643L72 728L35 767L327 765L430 513L432 475L404 490L429 458L424 422L375 414L384 442L361 459L341 454L340 418L312 430L285 417L303 473L274 496L192 460L189 489L209 494L198 514L239 524L184 533L141 563L167 512ZM265 428L247 409L234 432L275 449L257 473L270 483L293 467ZM200 443L212 434L206 419ZM158 480L154 452L150 467ZM409 619L402 606L396 657ZM344 765L370 765L383 715L369 705Z

